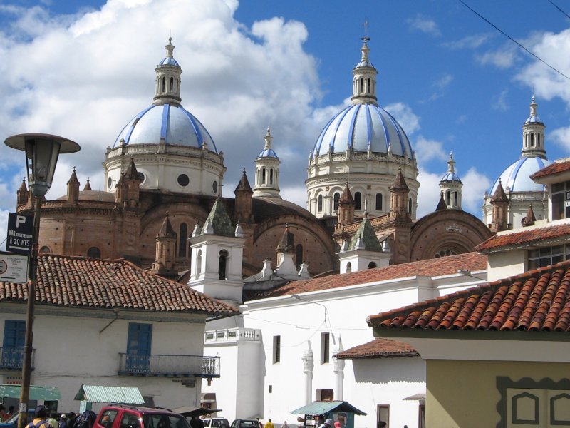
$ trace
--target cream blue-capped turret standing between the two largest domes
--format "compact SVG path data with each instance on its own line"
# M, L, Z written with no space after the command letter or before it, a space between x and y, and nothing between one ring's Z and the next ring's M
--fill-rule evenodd
M254 198L279 198L279 157L271 148L271 130L267 128L265 145L255 160Z

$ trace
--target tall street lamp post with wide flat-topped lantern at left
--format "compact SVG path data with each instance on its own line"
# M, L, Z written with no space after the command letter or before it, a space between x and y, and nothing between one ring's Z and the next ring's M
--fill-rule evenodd
M59 153L74 153L80 150L78 143L67 138L49 134L19 134L6 138L6 146L24 151L28 187L34 198L33 241L31 260L28 266L28 306L26 310L26 337L24 339L24 362L18 428L28 424L28 401L30 398L31 354L33 342L33 307L36 302L36 267L38 265L38 240L40 232L41 198L48 193L56 170Z

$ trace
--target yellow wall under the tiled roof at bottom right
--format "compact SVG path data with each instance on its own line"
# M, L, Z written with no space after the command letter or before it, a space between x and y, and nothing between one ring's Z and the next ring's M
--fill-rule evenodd
M494 428L500 420L497 376L555 382L570 377L561 362L427 360L427 428Z

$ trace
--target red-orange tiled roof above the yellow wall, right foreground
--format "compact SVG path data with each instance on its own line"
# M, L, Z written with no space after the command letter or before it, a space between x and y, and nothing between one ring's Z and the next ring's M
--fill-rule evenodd
M570 331L570 260L368 317L376 328Z

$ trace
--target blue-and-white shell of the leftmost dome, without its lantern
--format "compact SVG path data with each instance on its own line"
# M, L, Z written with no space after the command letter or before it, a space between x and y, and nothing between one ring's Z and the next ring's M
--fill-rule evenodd
M174 144L202 148L209 151L217 148L202 123L180 104L152 105L132 118L120 131L113 147L125 144Z

